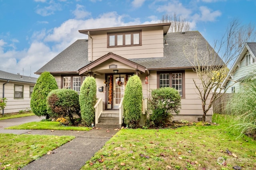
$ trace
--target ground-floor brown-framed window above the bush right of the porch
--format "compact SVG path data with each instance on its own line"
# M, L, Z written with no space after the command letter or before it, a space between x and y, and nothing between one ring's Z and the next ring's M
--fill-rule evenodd
M181 97L184 97L185 89L185 73L180 72L159 72L158 73L158 87L172 87L177 90Z

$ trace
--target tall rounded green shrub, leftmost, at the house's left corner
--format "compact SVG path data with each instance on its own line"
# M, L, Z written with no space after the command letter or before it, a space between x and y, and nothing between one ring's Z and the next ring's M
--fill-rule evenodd
M50 91L58 89L57 82L50 72L43 72L34 86L31 94L30 107L32 112L37 116L50 116L47 113L46 100Z

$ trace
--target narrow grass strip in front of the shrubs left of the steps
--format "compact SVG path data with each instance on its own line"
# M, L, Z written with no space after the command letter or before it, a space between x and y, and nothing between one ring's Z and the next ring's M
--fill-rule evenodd
M81 126L64 126L60 122L41 121L29 122L17 126L10 126L6 129L31 129L31 130L91 130L92 128Z

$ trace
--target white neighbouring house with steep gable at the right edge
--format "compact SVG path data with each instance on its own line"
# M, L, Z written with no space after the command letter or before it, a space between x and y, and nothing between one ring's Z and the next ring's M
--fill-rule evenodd
M242 81L256 71L256 42L246 42L238 58L234 62L227 77L222 83L226 93L240 90Z

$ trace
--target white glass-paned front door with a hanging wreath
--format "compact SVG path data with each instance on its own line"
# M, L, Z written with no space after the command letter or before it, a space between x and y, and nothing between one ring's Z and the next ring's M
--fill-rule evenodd
M124 97L125 74L113 75L113 108L118 109L121 99Z

